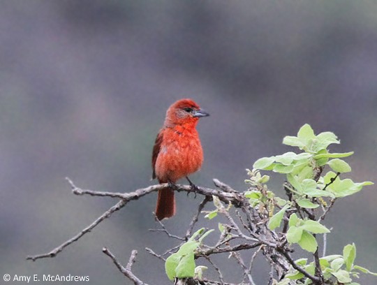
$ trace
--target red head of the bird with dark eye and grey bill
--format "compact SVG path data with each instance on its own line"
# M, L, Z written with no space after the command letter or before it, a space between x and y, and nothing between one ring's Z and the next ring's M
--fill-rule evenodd
M191 99L181 99L170 105L166 112L165 126L192 124L195 126L200 117L209 114L200 109L199 105Z

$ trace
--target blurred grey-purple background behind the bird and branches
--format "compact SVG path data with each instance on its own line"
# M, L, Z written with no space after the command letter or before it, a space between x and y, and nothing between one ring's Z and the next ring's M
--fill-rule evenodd
M283 137L305 123L339 136L332 152L355 151L353 173L344 176L376 182L376 15L374 0L1 1L1 277L71 274L89 275L85 284L131 284L102 254L106 246L124 264L137 249L135 274L168 284L163 263L145 251L177 242L148 231L158 227L156 193L56 258L25 258L57 247L117 203L74 196L65 177L97 191L156 183L151 149L179 98L211 113L198 125L205 151L192 176L198 185L212 187L216 177L246 190L245 168L288 151ZM269 187L282 195L282 181L276 176ZM200 200L177 194L167 228L183 235ZM376 203L372 186L335 204L325 223L334 227L327 254L356 242L356 263L377 271ZM234 261L215 261L228 282L240 281ZM266 284L263 258L254 268L257 284ZM376 277L362 275L360 283Z

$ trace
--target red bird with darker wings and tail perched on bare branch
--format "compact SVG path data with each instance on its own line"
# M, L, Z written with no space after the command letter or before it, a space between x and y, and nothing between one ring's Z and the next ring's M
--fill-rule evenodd
M165 122L158 132L152 153L153 179L169 183L170 187L158 191L156 217L161 220L175 214L174 188L177 180L200 169L203 150L196 124L209 114L191 99L173 103L166 112Z

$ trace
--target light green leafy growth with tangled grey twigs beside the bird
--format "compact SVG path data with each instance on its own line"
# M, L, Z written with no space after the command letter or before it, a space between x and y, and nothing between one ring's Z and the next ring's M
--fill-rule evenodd
M205 212L207 219L214 219L223 214L229 224L219 224L221 233L216 249L231 240L242 240L246 244L239 244L234 248L255 248L272 260L272 272L276 272L276 279L270 279L270 284L348 284L357 285L353 279L359 277L360 272L371 275L360 265L355 265L355 244L348 244L342 255L320 256L318 238L330 233L330 229L323 224L329 210L339 198L353 195L372 182L354 182L350 178L341 177L352 170L343 159L353 152L330 152L332 144L340 141L332 132L323 132L316 135L309 124L300 128L297 136L286 136L283 144L296 147L297 152L286 152L275 156L263 157L253 163L253 169L247 170L248 179L245 180L249 189L243 193L248 202L240 203L244 218L237 212L239 222L248 231L244 233L230 214L231 204L223 205L221 200L213 196L215 209ZM285 175L286 198L279 198L274 191L267 187L269 175L261 171L272 171ZM244 221L246 219L246 222ZM172 254L165 263L167 275L170 279L194 277L195 253L200 251L204 229L196 232L188 242L182 244L179 250ZM196 240L198 235L202 237ZM255 244L249 244L255 242ZM295 246L312 255L309 258L300 258L294 261L290 253ZM209 247L207 247L209 248ZM258 253L256 251L256 253ZM224 249L223 252L226 252ZM307 254L306 254L307 255ZM232 253L237 262L245 270L244 279L251 272L245 268L241 256ZM253 258L249 265L252 268ZM196 272L202 270L196 267ZM272 275L271 275L272 276ZM272 277L271 277L272 278ZM242 281L244 282L244 280ZM244 283L242 283L244 284Z

